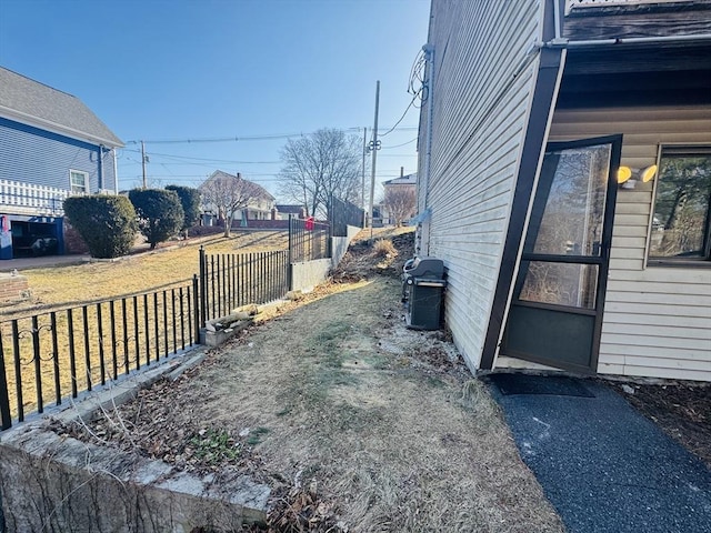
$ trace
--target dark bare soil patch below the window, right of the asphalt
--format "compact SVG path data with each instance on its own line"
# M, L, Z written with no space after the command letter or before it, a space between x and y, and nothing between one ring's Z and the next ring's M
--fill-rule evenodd
M607 384L711 469L711 384Z

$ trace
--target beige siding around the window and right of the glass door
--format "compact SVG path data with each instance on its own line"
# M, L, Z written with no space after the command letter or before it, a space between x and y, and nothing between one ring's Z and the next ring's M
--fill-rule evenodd
M557 111L551 140L623 133L622 164L660 144L711 144L711 110ZM711 381L711 270L647 266L653 183L619 189L598 371Z

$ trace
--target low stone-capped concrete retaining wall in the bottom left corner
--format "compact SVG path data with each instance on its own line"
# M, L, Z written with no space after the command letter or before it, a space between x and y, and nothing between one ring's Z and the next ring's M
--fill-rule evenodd
M151 369L53 416L87 420L201 355ZM93 414L92 414L93 413ZM100 414L99 414L100 415ZM0 532L190 533L264 522L268 486L237 471L198 476L133 451L60 436L37 420L0 433Z

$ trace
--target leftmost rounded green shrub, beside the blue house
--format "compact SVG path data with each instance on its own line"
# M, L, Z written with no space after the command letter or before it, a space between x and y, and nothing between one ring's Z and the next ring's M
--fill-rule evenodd
M128 198L70 197L64 200L64 214L93 258L118 258L131 251L138 227Z

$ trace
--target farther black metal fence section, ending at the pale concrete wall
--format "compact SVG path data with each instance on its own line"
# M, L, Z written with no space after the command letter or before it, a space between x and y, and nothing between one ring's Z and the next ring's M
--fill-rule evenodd
M289 251L207 254L200 249L200 322L289 292Z

